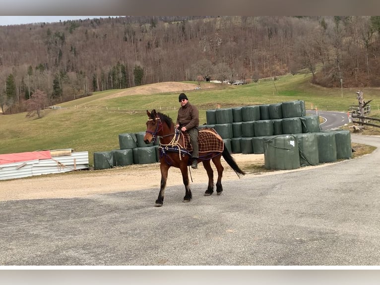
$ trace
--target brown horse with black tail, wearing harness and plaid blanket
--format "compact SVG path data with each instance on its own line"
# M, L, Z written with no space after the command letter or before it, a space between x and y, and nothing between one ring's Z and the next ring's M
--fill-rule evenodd
M161 170L161 185L155 207L161 207L164 202L164 193L166 188L166 181L168 178L168 170L171 166L181 170L183 182L185 185L185 197L183 202L190 202L192 199L191 190L189 187L189 175L187 167L191 164L191 150L189 134L182 133L175 128L172 119L155 109L152 112L146 110L148 121L146 122L146 132L144 135L144 142L146 144L152 143L159 139L159 161ZM211 168L210 160L214 163L218 172L218 180L216 182L216 193L220 195L223 191L222 176L223 165L221 163L221 156L226 160L228 165L235 171L240 178L241 175L246 173L239 168L234 158L228 151L223 139L212 128L202 128L199 130L198 135L199 143L199 158L198 162L202 162L208 175L208 186L204 196L210 196L214 192L214 174Z

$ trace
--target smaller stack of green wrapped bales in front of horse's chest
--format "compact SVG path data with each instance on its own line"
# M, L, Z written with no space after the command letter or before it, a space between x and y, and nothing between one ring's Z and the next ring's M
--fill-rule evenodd
M94 169L157 162L158 142L146 144L144 136L145 132L120 134L120 149L94 152Z

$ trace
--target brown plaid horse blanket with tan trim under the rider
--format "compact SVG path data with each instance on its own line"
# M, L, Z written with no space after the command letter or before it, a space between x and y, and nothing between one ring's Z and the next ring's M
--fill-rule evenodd
M192 151L190 136L188 133L183 134L184 148ZM223 152L224 142L222 137L212 128L203 128L198 133L199 152Z

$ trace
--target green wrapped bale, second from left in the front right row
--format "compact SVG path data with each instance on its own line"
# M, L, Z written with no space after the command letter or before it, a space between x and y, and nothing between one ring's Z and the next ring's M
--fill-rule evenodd
M300 150L301 166L317 165L319 163L318 140L315 133L295 134Z

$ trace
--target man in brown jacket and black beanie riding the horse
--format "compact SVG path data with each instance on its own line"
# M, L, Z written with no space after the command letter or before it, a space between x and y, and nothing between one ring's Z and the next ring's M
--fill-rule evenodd
M199 157L198 150L198 125L199 125L199 113L198 109L189 103L189 99L185 93L181 93L178 97L181 108L178 109L178 116L176 122L176 129L180 129L182 132L188 132L190 137L190 143L192 146L191 154L191 168L198 168L197 159Z

